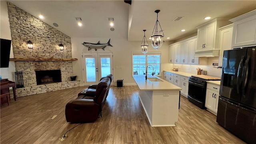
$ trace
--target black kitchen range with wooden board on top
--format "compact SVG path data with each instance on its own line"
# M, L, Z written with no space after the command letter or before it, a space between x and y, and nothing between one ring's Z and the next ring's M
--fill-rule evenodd
M220 78L206 75L193 75L188 78L188 101L201 109L205 109L207 80L220 80Z

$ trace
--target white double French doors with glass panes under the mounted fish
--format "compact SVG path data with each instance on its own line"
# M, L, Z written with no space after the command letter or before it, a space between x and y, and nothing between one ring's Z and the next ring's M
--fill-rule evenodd
M98 84L100 78L113 74L112 53L83 53L84 85Z

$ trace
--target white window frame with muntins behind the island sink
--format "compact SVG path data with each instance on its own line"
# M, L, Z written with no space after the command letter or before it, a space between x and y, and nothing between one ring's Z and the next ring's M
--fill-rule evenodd
M132 77L134 76L134 56L143 56L143 55L146 55L146 57L145 57L145 67L147 65L159 64L159 74L154 74L154 75L155 76L161 76L161 52L148 52L147 54L142 54L141 52L132 52ZM148 55L158 55L160 57L159 58L159 63L150 63L150 64L148 64ZM150 74L150 73L148 73L148 74Z

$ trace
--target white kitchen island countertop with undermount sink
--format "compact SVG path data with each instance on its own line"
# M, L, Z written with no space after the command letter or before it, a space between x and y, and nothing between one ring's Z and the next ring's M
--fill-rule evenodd
M142 75L134 75L133 78L140 90L182 90L182 88L157 76L148 76L148 78L158 78L162 80L161 82L151 82L150 80L146 80L145 76Z

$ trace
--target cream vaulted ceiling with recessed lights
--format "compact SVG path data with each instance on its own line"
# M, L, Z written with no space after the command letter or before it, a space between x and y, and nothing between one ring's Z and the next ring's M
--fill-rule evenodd
M72 38L126 38L141 41L151 36L158 20L164 30L164 40L177 40L197 31L196 26L207 22L206 16L231 19L256 9L255 0L8 0L39 18L42 14L50 26ZM183 18L172 21L177 16ZM82 19L78 26L76 17ZM114 18L111 31L108 18ZM58 27L53 23L58 24ZM180 30L185 29L185 32ZM170 37L170 39L166 39Z

